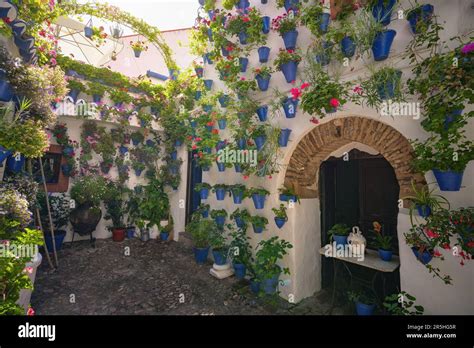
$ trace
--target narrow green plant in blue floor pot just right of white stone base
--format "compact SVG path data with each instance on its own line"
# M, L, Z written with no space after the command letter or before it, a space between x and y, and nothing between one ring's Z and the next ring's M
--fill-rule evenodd
M232 258L235 276L237 279L244 279L247 268L253 260L250 237L244 229L231 230L230 237L232 240L229 244L229 255Z

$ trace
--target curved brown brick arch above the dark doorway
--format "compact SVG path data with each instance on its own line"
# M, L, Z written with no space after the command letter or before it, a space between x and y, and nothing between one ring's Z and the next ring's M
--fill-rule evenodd
M412 179L424 184L424 177L411 170L413 149L400 132L372 118L351 116L323 123L303 136L291 155L284 185L293 188L300 198L318 198L321 163L351 142L370 146L385 157L395 171L400 197L412 193Z

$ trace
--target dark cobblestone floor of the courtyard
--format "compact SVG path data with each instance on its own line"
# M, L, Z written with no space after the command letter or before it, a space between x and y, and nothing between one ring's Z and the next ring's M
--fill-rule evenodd
M76 242L58 257L58 270L51 271L46 259L38 270L31 300L37 315L283 315L324 314L329 308L324 292L295 305L277 296L258 298L235 277L215 279L212 264L197 265L182 243L109 239L92 248ZM333 314L344 311L335 308Z

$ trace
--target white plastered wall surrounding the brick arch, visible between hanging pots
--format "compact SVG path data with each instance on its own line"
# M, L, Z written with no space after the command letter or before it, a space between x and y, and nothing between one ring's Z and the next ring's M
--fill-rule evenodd
M219 2L218 2L219 3ZM408 8L408 2L402 1L400 8ZM474 12L470 7L469 2L466 1L431 1L434 5L435 13L440 16L441 22L445 27L445 31L442 33L442 40L446 40L450 37L458 34L465 34L469 28L473 27ZM260 4L259 1L251 1L251 5L257 7L262 15L270 16L271 18L283 13L284 9L276 9L274 5L269 2L267 5ZM452 20L456 18L457 20ZM392 21L389 28L395 29L397 35L392 45L391 55L388 60L384 62L373 62L370 57L365 57L365 63L373 63L376 67L384 65L394 65L403 71L403 79L407 79L411 73L411 67L408 66L406 60L401 59L405 46L412 39L412 34L409 29L408 22L406 20ZM311 43L312 37L306 28L299 28L298 44L300 48L306 49ZM278 33L270 32L267 38L265 46L271 48L270 63L276 57L279 48L283 48L283 40ZM349 67L341 67L331 65L332 71L338 70L342 74L344 80L356 80L363 78L364 75L368 75L369 72L363 61L360 59L356 62L351 61ZM252 68L261 65L258 62L257 50L254 50L249 57L249 67L247 73L244 74L248 79L253 78L251 73ZM298 81L297 84L304 81L303 76L303 65L301 64L298 69ZM352 71L351 71L352 70ZM217 72L214 70L214 65L206 65L204 78L213 79L214 86L213 91L225 90L225 86L222 81L219 80ZM267 92L258 92L257 98L261 100L261 104L270 103L273 98L273 88L278 88L280 92L289 92L293 87L287 84L284 80L281 72L275 72L272 75L270 88ZM472 106L466 106L465 111L472 109ZM396 117L394 119L390 117L380 116L376 110L368 109L357 106L352 103L346 104L342 110L329 117L321 120L321 123L327 122L333 118L347 117L347 116L363 116L375 118L380 122L384 122L408 139L426 139L427 134L422 130L420 121L414 120L409 117ZM281 128L291 128L292 134L290 137L290 143L288 147L282 150L282 164L283 168L279 174L273 175L272 179L251 177L248 180L244 180L241 174L235 173L234 170L226 169L224 173L219 173L216 166L211 167L210 172L204 172L203 181L210 184L215 183L245 183L248 186L262 186L267 188L272 195L266 202L264 210L255 210L251 200L247 199L243 202L242 206L249 209L252 215L264 215L270 223L267 226L267 231L263 234L258 235L253 233L252 228L248 230L248 235L252 238L251 244L255 246L262 238L268 239L274 235L278 235L281 238L291 242L293 249L290 255L286 257L282 264L289 267L291 276L289 282L286 282L285 286L280 287L283 297L287 297L288 294L293 294L296 301L303 299L304 297L312 295L315 291L318 291L321 287L321 258L318 254L321 241L320 231L320 209L318 199L304 199L301 201L301 205L296 205L294 209L289 209L289 221L285 226L279 230L273 221L272 207L278 207L280 202L278 201L278 188L281 187L284 176L284 166L288 164L291 157L291 153L295 149L298 142L302 137L309 132L311 129L316 127L314 124L309 122L310 115L304 114L301 110L298 110L298 114L294 119L286 119L281 112L270 116L271 123L280 126ZM471 121L467 127L467 135L469 137L474 136L474 127ZM227 131L220 131L223 138L229 138ZM361 146L360 144L351 144L344 148L344 151L350 150L351 148L358 147L364 151L367 151L367 147ZM369 149L370 150L370 149ZM371 151L374 153L374 150ZM336 151L336 154L342 153L341 150ZM463 188L460 192L443 192L442 194L448 198L451 202L452 208L458 208L462 206L469 206L474 204L474 163L469 163L464 174ZM426 180L428 183L435 182L432 173L426 174ZM236 209L237 205L232 203L231 198L226 198L225 201L216 201L214 195L210 195L210 198L206 203L211 205L211 209L226 209L229 214ZM472 297L472 276L474 274L474 266L472 262L464 267L458 264L458 260L451 256L446 257L446 261L440 262L440 268L442 272L448 273L454 280L454 285L444 285L439 279L433 279L428 271L422 266L412 254L411 250L405 245L403 233L407 232L409 225L407 224L406 211L400 212L399 215L399 241L400 241L400 258L401 258L401 286L402 290L406 290L412 293L418 299L426 310L427 314L472 314L474 312L474 303ZM439 261L433 261L439 263ZM283 279L288 278L283 276Z

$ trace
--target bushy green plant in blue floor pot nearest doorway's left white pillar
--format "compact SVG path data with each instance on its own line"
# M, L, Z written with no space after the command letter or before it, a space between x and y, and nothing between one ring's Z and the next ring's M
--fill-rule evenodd
M281 273L290 274L290 270L281 267L278 262L288 254L288 249L291 248L293 246L289 242L276 236L257 244L255 271L266 294L271 295L276 292Z

